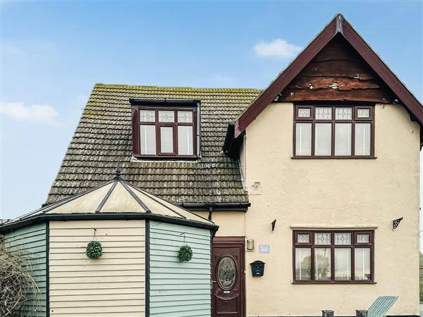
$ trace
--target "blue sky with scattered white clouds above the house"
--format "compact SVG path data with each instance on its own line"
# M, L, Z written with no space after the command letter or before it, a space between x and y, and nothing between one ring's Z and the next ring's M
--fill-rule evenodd
M1 1L0 218L46 199L96 82L265 88L343 13L419 100L422 1Z

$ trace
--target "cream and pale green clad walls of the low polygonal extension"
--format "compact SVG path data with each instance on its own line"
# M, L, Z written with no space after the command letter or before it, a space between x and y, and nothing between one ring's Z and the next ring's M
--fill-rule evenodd
M95 260L85 255L94 228ZM50 220L6 233L6 247L32 255L38 317L210 316L210 241L208 229L153 220ZM188 263L178 259L184 242Z

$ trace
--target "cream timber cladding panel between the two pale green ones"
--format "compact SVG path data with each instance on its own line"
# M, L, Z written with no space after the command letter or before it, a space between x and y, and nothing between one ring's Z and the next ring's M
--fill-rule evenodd
M87 243L102 243L88 259ZM145 220L51 221L50 316L145 316Z

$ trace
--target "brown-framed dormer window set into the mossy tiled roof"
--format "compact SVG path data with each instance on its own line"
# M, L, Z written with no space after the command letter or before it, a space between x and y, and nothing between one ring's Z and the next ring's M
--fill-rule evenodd
M200 101L130 99L133 154L140 158L196 158Z

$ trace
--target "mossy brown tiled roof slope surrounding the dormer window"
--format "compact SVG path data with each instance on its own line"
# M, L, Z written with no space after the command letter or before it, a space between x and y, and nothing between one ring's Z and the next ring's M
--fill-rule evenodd
M238 161L222 152L228 122L261 91L97 84L54 181L47 203L102 185L121 161L122 177L173 203L247 202ZM130 98L200 99L200 161L131 162Z

